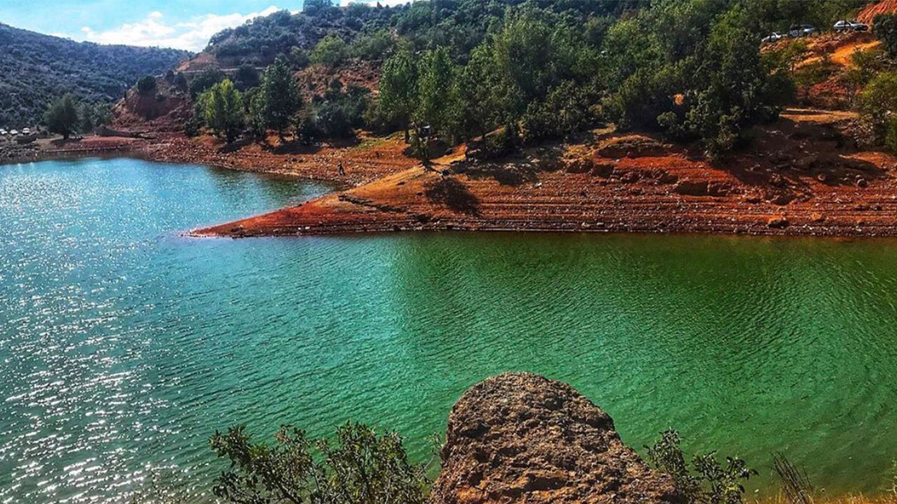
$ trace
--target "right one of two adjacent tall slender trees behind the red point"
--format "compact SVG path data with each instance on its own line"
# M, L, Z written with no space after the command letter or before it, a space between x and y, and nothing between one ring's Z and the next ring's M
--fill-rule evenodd
M455 77L455 65L448 56L448 48L427 51L421 60L418 79L416 121L421 126L431 126L437 133L449 130L451 96Z

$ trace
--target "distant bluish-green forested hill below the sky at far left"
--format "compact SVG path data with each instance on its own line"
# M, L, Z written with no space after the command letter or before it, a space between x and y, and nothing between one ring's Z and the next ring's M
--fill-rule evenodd
M0 23L0 127L37 124L66 92L112 102L147 74L161 74L190 53L167 48L100 46Z

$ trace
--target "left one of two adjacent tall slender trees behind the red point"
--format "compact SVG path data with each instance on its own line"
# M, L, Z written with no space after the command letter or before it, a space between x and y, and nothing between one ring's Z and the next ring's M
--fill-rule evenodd
M417 101L417 65L410 50L403 48L386 61L379 87L381 111L389 121L401 125L408 143L408 128Z

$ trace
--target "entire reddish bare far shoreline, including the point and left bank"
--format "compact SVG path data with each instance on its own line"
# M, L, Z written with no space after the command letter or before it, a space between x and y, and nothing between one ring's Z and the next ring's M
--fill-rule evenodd
M850 118L788 110L751 150L716 163L662 139L608 129L496 161L468 163L461 146L433 160L436 169L409 157L398 135L314 146L276 139L225 146L172 133L91 136L0 163L133 157L335 187L299 206L184 233L190 237L462 230L895 238L897 158L851 143L842 133Z

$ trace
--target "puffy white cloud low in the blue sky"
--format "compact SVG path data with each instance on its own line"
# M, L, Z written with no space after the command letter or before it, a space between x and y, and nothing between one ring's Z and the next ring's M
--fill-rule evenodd
M266 16L280 9L274 5L258 13L205 14L186 22L171 22L160 12L149 13L138 22L126 22L118 28L95 31L85 26L83 39L98 44L126 44L128 46L179 48L200 51L212 36L225 28L239 26L258 16Z

